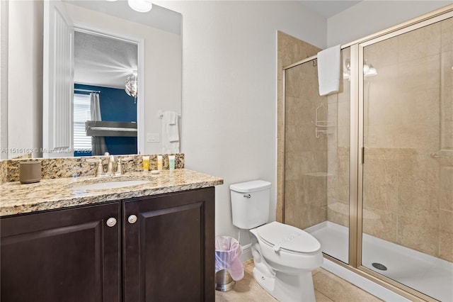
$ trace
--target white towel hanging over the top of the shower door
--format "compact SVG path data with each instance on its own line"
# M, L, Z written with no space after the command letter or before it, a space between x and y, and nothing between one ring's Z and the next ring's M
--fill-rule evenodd
M340 89L340 45L318 52L319 95L325 96Z

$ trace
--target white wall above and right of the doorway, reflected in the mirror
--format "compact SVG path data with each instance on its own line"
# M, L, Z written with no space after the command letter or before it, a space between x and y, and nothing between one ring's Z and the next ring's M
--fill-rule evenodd
M159 142L145 142L146 133L161 133L158 111L181 113L181 38L165 30L66 4L71 20L121 38L144 40L144 131L145 154L161 153ZM131 71L132 72L132 71ZM102 96L101 96L102 97ZM139 100L140 101L140 100ZM140 125L140 124L139 124Z

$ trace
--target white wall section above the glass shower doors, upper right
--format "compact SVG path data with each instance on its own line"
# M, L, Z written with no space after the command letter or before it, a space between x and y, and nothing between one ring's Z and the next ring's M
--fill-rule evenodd
M350 43L452 3L452 0L365 0L328 18L327 44Z

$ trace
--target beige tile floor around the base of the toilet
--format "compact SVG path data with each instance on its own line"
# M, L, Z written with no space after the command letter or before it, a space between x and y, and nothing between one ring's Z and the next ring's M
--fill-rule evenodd
M244 262L244 277L237 281L231 291L215 291L215 301L219 302L273 302L277 301L273 296L262 289L252 276L253 260ZM326 271L316 269L313 272L314 293L316 301L382 301L370 293L359 289L348 281Z

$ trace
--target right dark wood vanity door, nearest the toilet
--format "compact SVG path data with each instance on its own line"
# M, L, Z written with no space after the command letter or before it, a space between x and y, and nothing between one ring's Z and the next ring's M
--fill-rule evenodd
M214 188L123 207L124 301L214 301Z

